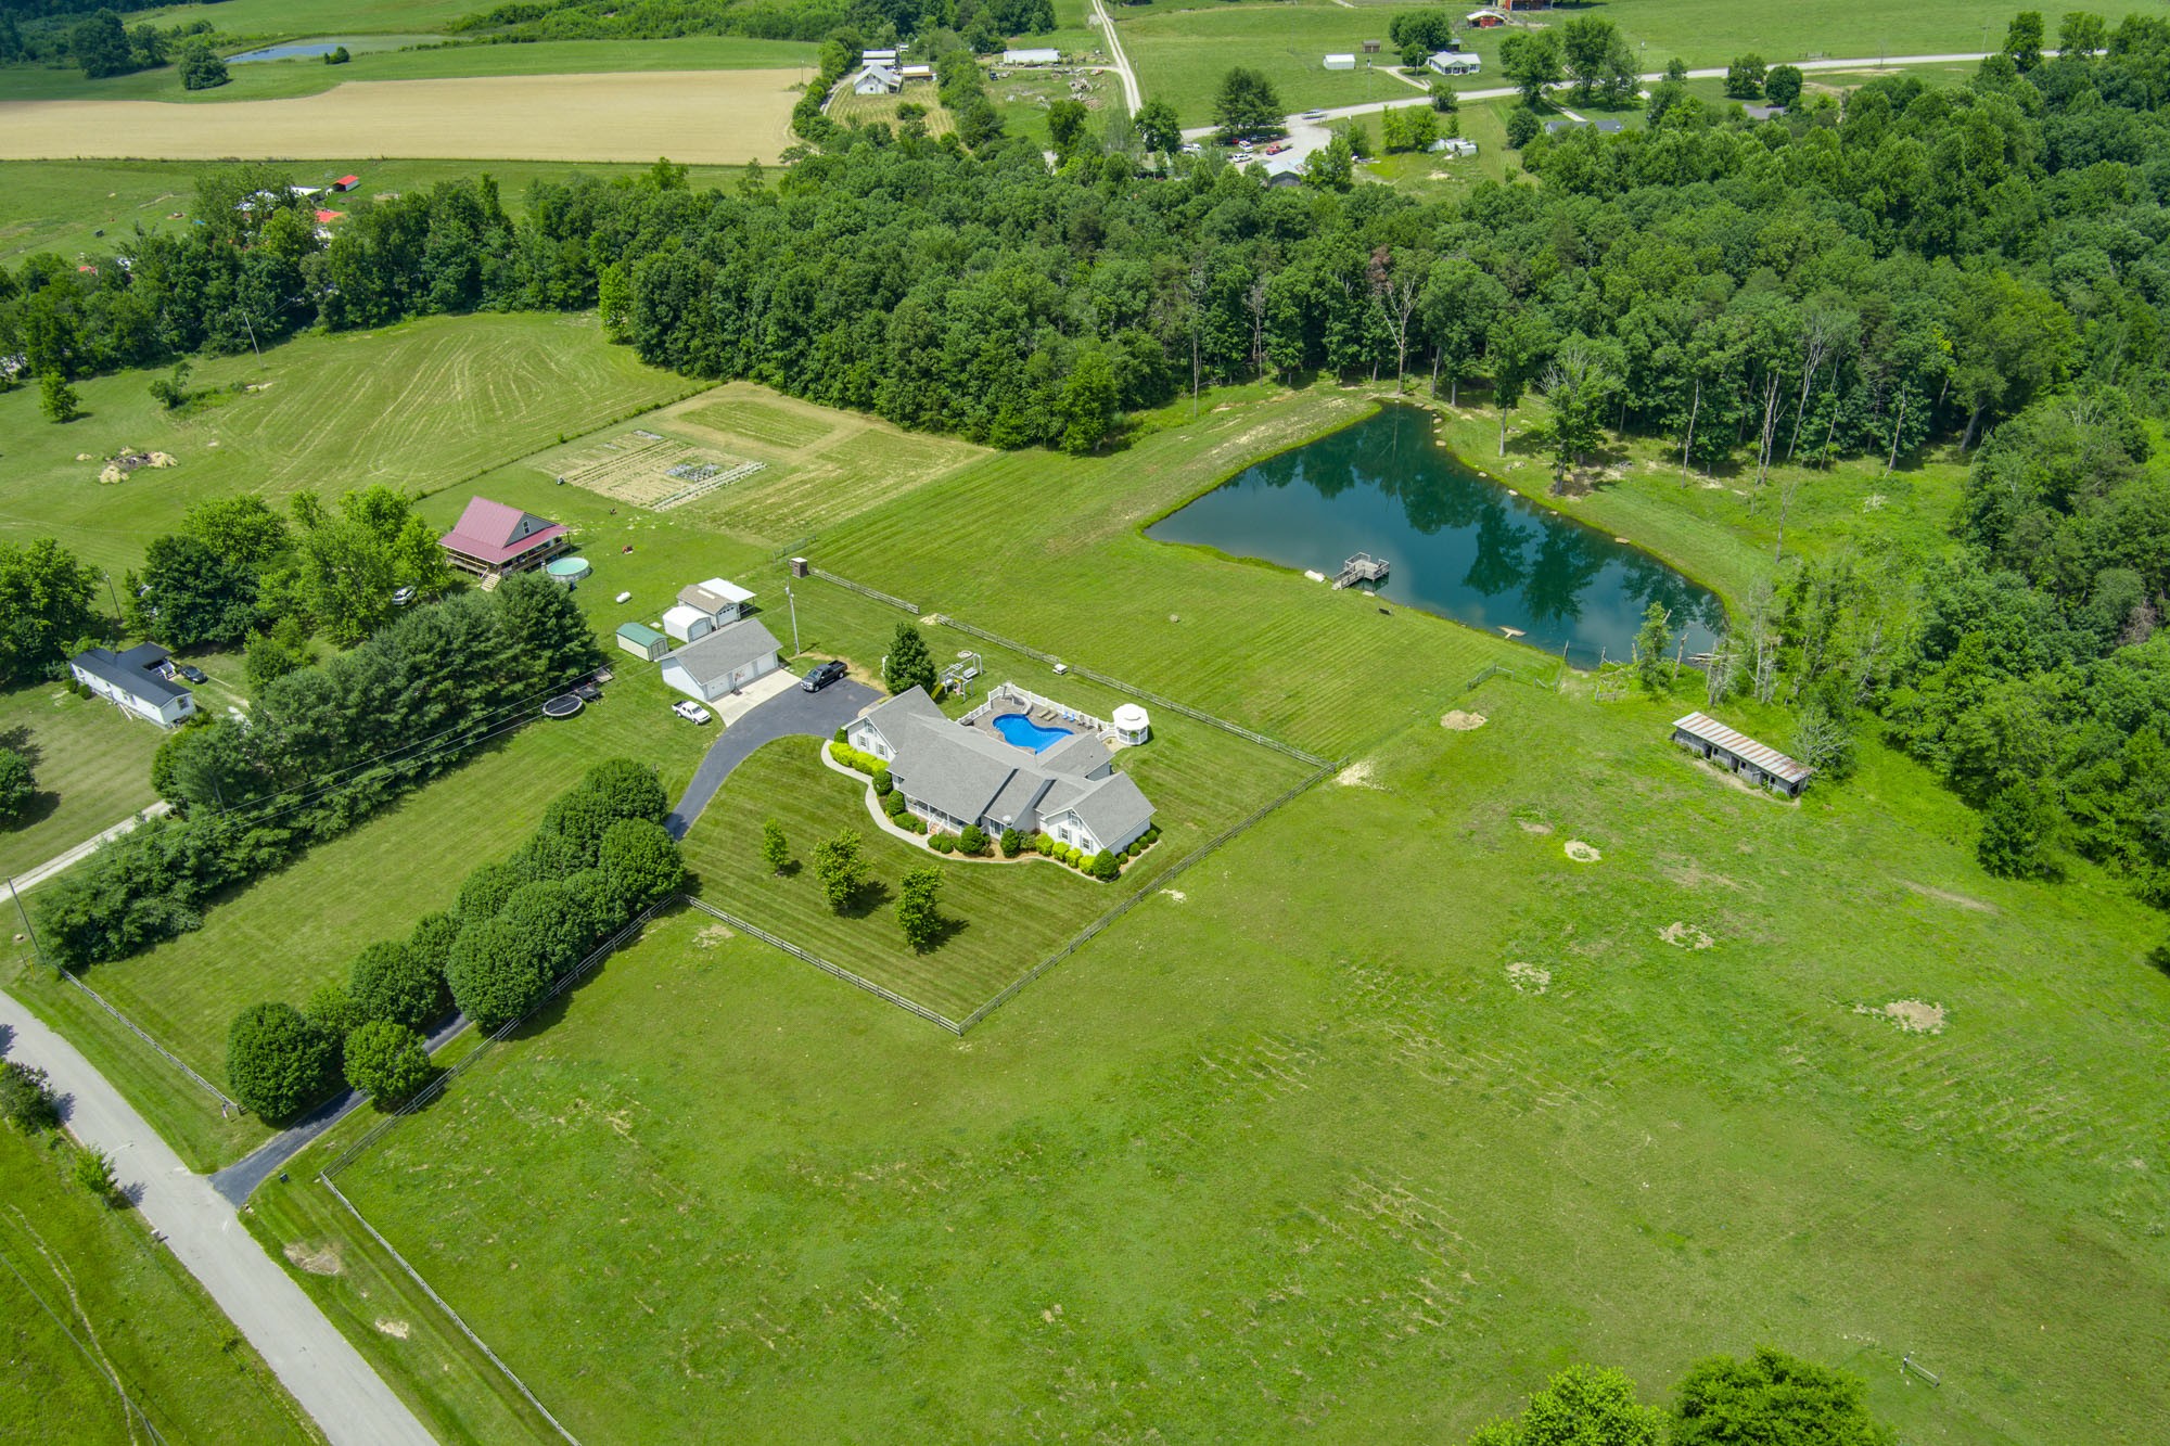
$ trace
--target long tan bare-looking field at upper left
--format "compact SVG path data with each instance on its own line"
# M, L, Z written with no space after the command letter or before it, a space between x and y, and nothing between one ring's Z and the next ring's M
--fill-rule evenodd
M0 102L0 158L443 156L477 161L775 161L794 72L362 80L321 96L174 106Z

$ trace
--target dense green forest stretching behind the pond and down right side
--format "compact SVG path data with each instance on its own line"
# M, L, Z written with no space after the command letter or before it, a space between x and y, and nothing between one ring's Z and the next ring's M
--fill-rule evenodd
M1458 202L1269 191L1141 154L1126 119L1057 169L998 126L840 130L773 185L690 191L658 163L540 185L519 224L480 178L358 204L330 241L241 167L206 178L187 237L0 276L0 345L74 376L250 326L599 306L690 376L1074 449L1207 382L1406 371L1482 386L1502 445L1504 408L1543 397L1562 471L1599 430L1662 436L1779 517L1775 465L1957 445L1949 558L1792 565L1745 599L1712 686L1801 708L1831 773L1879 714L1990 810L1994 866L2062 840L2170 903L2170 484L2144 423L2170 393L2166 104L2170 22L2131 17L2098 52L1771 122L1673 98L1647 132L1539 137L1534 180Z

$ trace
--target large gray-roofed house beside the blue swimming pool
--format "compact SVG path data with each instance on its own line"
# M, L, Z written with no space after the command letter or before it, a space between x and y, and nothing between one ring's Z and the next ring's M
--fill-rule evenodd
M844 740L890 764L905 808L950 834L1048 834L1085 853L1120 853L1152 827L1152 803L1115 773L1107 745L1072 734L1042 751L948 719L924 688L855 719Z

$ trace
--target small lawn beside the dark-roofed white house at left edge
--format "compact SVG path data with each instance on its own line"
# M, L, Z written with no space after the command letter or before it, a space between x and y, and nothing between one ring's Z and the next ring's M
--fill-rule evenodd
M150 723L61 684L0 693L0 749L22 753L37 775L28 816L0 827L0 879L156 803L150 758L163 740Z

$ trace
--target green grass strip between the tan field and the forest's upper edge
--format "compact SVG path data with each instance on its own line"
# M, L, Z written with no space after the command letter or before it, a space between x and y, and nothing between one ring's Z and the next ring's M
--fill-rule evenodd
M0 263L13 265L37 252L56 252L69 261L91 252L111 254L137 226L178 234L189 226L195 178L204 169L202 161L0 161ZM297 163L286 174L293 185L328 187L356 172L362 176L360 195L386 198L486 172L497 180L506 213L519 217L527 208L527 187L536 180L644 169L562 161L356 161ZM736 165L697 165L686 180L694 189L731 189L742 174L744 167ZM332 206L345 208L345 202L332 198Z

